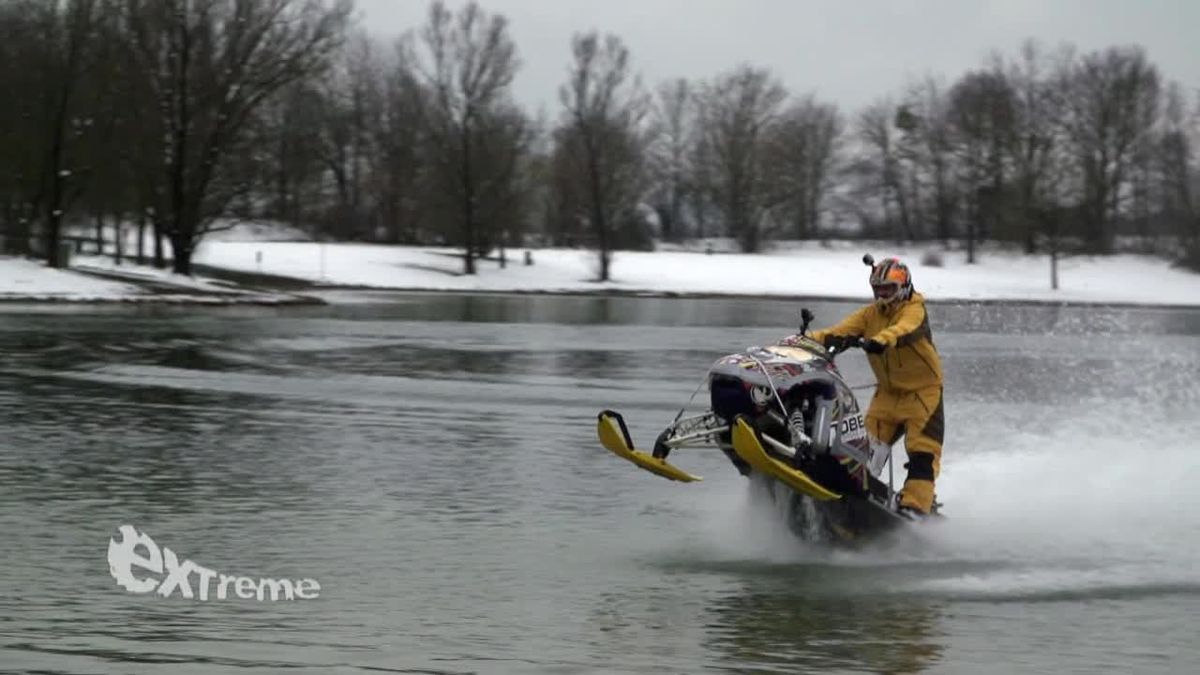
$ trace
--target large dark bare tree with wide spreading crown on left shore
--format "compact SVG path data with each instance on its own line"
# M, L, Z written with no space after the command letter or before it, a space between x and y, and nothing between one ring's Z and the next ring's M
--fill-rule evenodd
M174 270L246 189L227 171L248 120L288 84L323 70L350 2L125 0L130 73L146 108L146 197Z

